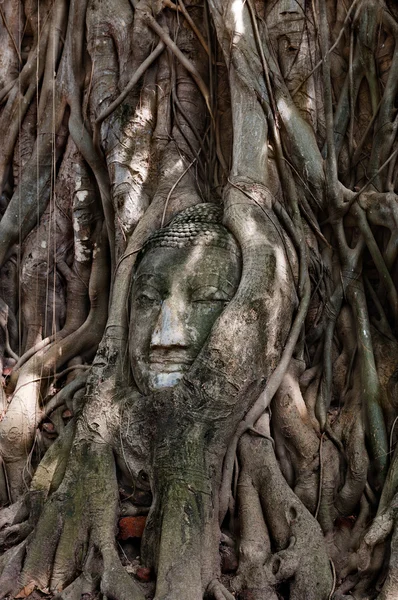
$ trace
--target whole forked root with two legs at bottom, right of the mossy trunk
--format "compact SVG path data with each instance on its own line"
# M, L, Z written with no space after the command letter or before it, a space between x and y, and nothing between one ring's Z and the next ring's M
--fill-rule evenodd
M242 540L235 587L276 597L272 588L291 580L291 600L327 600L333 578L322 531L284 479L263 425L257 424L262 436L245 434L239 445Z

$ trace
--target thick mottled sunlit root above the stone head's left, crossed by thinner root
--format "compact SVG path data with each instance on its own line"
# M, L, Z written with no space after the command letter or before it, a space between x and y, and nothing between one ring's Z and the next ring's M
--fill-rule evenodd
M88 8L88 48L93 59L91 112L94 141L101 138L109 170L114 205L117 254L126 247L138 221L150 203L146 180L150 169L151 133L154 126L156 92L154 72L149 72L141 97L134 89L108 114L112 100L127 84L127 73L135 72L152 49L153 35L143 24L142 7L133 11L127 1L120 4L117 20L112 6L93 2ZM132 44L134 39L134 44ZM98 122L98 118L101 120ZM101 129L99 135L99 129Z

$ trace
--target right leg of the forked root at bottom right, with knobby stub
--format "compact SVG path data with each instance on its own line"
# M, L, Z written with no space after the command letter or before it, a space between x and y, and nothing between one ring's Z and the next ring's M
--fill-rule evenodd
M245 434L239 445L242 472L258 490L265 522L276 553L266 561L273 581L290 579L290 598L329 597L332 574L318 523L283 478L269 439L266 416L256 424L264 437Z

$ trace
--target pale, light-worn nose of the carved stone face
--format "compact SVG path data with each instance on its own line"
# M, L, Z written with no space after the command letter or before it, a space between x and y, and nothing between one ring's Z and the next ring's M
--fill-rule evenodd
M151 338L151 348L188 345L184 314L186 317L186 311L181 310L178 302L172 298L167 298L162 303Z

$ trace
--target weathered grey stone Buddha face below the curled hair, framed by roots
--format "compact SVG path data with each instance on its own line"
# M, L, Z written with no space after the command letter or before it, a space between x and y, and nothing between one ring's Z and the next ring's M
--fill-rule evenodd
M143 394L175 386L189 369L240 279L226 248L196 245L149 250L131 296L130 361Z

